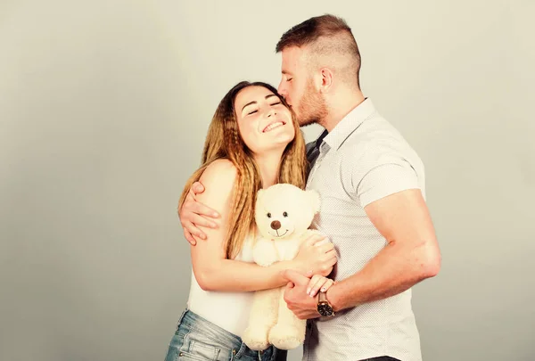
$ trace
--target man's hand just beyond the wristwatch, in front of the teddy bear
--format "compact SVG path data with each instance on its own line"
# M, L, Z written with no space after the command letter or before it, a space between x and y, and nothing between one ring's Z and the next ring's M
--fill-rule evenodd
M284 278L289 281L284 290L284 301L293 314L301 320L319 317L317 298L307 294L309 278L290 269L284 271Z

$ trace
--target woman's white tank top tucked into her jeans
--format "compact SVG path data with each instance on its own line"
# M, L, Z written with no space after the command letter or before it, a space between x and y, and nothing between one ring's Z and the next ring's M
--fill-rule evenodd
M243 242L243 248L235 260L253 262L252 237ZM204 291L195 279L192 281L187 305L195 314L236 336L242 337L247 327L254 292Z

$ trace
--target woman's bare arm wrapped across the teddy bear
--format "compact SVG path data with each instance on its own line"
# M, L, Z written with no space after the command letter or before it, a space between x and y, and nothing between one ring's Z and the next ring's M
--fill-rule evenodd
M232 212L232 198L237 178L237 170L229 160L216 160L201 176L205 191L197 195L197 201L218 211L221 217L214 219L218 227L202 227L207 240L197 242L191 247L193 274L197 283L205 291L258 291L283 286L287 283L283 273L285 269L297 269L306 272L311 262L304 262L310 258L311 252L316 253L316 263L328 264L333 256L326 247L309 247L308 255L300 255L292 261L276 262L270 267L260 267L254 263L226 259L225 236L228 229L228 219ZM317 237L316 242L321 240ZM313 243L309 241L309 243ZM323 253L322 253L323 252ZM302 253L302 252L300 252ZM335 262L335 260L334 260ZM317 267L315 264L314 267ZM325 267L325 266L324 266Z

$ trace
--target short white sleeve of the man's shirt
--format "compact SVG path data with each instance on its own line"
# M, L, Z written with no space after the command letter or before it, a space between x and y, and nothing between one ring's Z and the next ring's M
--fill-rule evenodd
M363 208L393 193L421 189L415 168L397 152L366 154L355 164L351 181Z

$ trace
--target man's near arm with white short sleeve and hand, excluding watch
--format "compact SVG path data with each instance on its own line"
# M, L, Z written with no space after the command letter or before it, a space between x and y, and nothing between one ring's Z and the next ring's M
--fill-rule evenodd
M370 147L372 151L358 160L346 159L344 166L351 177L345 187L387 244L358 273L327 291L334 311L394 296L440 270L440 250L420 190L418 176L422 175L403 154L381 145ZM317 316L304 281L295 284L285 292L288 307L305 318Z

